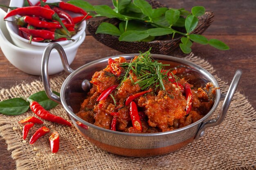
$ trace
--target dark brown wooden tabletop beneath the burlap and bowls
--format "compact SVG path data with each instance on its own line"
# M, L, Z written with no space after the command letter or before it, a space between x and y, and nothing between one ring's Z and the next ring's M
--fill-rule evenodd
M88 0L97 4L111 5L111 0ZM190 10L193 6L204 6L207 11L215 13L214 22L204 32L207 38L217 38L224 41L230 47L229 51L219 51L211 46L193 44L192 51L208 60L216 69L218 77L227 82L237 69L243 70L239 91L248 97L248 101L256 108L256 3L254 0L161 0L168 7ZM0 0L0 4L8 5L9 1ZM4 42L0 42L4 43ZM79 47L71 68L76 69L83 64L102 57L121 54L119 51L97 42L91 35L86 35L85 41ZM171 53L172 56L182 57L180 50ZM18 56L17 56L18 57ZM28 75L11 65L0 50L0 88L10 88L22 82L32 82L41 79L39 76ZM53 75L51 77L54 77ZM11 158L11 152L7 151L4 139L0 140L0 169L13 170L15 161Z

